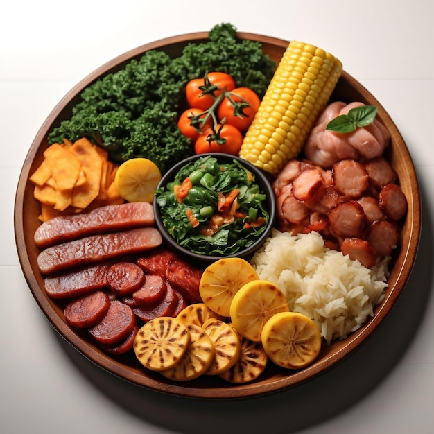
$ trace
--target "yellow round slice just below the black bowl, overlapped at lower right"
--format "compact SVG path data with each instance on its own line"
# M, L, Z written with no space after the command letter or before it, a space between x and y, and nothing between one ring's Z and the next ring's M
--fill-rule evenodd
M207 266L202 274L200 297L209 309L218 315L229 317L234 295L244 284L257 279L257 272L245 259L218 259Z

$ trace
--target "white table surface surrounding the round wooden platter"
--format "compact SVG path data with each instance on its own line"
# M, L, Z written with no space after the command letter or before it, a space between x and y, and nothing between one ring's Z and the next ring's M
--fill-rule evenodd
M433 433L434 6L424 0L1 0L0 432ZM379 99L413 157L422 240L413 275L366 345L305 385L232 402L130 385L72 349L37 306L13 234L15 188L40 126L73 85L153 40L208 31L304 40L340 58Z

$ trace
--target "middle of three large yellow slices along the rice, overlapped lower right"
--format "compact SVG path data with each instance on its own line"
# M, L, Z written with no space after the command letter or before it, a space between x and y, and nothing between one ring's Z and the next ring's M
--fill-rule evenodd
M254 342L261 341L264 324L279 312L289 311L288 302L278 286L270 281L256 280L245 284L230 306L234 329Z

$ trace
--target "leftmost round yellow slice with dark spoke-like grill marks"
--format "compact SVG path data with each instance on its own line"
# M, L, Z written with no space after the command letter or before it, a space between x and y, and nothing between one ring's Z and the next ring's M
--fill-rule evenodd
M133 348L144 367L162 371L180 362L190 341L190 332L185 324L172 317L159 317L139 329Z

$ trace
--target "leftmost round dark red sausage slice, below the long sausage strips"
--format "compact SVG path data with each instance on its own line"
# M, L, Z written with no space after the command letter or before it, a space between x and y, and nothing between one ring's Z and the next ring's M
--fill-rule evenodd
M109 307L108 295L103 291L95 291L69 302L64 308L64 318L73 327L94 327L105 317Z

